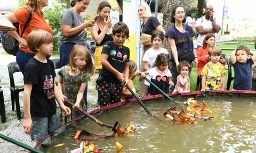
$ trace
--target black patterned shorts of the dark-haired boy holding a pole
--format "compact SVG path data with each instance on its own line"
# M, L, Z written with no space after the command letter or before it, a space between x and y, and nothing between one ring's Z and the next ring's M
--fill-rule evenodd
M108 106L121 101L123 86L122 83L100 81L98 85L98 104Z

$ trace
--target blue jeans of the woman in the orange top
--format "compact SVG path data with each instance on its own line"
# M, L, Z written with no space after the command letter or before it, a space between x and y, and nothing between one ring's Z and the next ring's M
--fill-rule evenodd
M34 53L28 53L28 52L24 52L20 48L18 49L18 52L16 54L16 62L18 63L18 65L20 67L20 71L21 71L22 74L24 73L24 69L25 69L26 64L34 56L35 56ZM51 56L46 56L46 58L48 58L48 59L50 57Z

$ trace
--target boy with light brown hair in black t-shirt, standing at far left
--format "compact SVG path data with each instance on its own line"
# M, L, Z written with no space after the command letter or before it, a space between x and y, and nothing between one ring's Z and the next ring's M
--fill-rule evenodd
M60 108L67 115L70 114L70 109L61 101L55 86L53 62L46 59L47 55L52 55L52 43L52 35L44 30L34 30L27 37L28 48L35 56L29 60L24 70L23 126L31 140L37 142L59 127L55 98Z

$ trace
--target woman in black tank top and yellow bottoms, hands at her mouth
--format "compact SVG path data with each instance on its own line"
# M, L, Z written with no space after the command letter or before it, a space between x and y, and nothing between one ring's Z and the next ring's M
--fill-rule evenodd
M108 2L101 2L98 6L98 14L99 19L97 20L96 24L91 27L91 34L93 39L96 43L95 49L95 70L99 71L99 74L102 69L102 65L100 63L101 60L101 51L103 45L109 41L113 40L111 36L112 33L112 25L111 24L111 17L110 17L111 5Z

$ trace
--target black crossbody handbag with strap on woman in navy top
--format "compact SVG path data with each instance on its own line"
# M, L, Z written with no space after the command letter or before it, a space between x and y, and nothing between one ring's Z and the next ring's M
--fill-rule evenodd
M181 52L179 55L178 55L178 60L179 61L188 61L188 62L192 62L195 60L195 55L193 53L193 47L191 46L191 41L190 41L190 37L189 37L189 33L188 33L188 30L185 26L185 24L182 24L182 27L183 29L186 30L186 35L187 35L187 39L188 39L188 42L189 42L189 46L190 46L190 50L184 50L183 52ZM174 29L175 29L175 38L177 36L177 29L175 28L175 25L174 25ZM176 39L175 39L175 43L176 43ZM177 46L177 44L176 44Z

